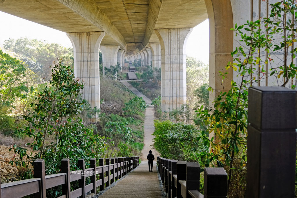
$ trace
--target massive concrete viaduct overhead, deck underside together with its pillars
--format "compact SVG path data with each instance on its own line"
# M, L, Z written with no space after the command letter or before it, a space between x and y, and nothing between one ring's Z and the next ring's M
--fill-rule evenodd
M0 11L67 33L75 75L84 80L83 95L91 107L100 108L100 50L103 68L117 61L123 65L124 58L141 58L161 68L162 111L168 111L186 102L185 47L192 28L209 19L213 99L236 78L229 71L229 81L222 83L219 76L238 45L230 28L268 13L264 4L261 0L0 0Z

